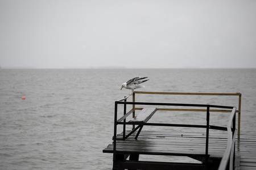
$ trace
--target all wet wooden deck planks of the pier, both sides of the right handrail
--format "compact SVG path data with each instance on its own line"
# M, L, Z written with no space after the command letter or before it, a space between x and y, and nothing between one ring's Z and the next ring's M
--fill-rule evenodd
M127 131L126 133L129 133ZM170 133L167 131L141 131L138 139L135 134L122 141L122 133L117 136L118 154L174 155L188 156L204 161L205 134ZM220 161L226 148L226 135L210 133L209 158ZM103 152L113 153L113 144ZM241 134L236 142L236 169L256 169L256 134Z

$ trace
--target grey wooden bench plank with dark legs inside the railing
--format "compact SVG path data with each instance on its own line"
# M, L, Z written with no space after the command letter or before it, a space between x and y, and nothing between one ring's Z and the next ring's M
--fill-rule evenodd
M153 114L157 111L157 108L143 108L141 112L137 114L132 120L129 122L133 122L134 124L137 124L137 128L133 129L127 136L129 137L131 134L133 134L137 129L139 129L137 135L135 136L135 139L138 138L139 133L141 133L141 130L143 128L143 124L146 123L150 118L153 116Z

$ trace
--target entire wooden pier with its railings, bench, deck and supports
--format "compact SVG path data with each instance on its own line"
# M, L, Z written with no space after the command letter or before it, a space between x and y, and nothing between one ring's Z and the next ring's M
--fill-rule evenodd
M141 94L141 92L135 92ZM236 107L226 107L220 105L203 104L174 104L174 103L144 103L126 101L128 97L115 101L114 136L113 143L108 145L103 152L113 154L113 169L254 169L256 138L247 139L241 136L240 139L240 113L241 94L221 94L239 96L238 109ZM153 92L142 92L152 94ZM154 92L155 94L155 92ZM167 93L157 93L167 94ZM168 95L174 93L168 93ZM175 93L175 95L179 95ZM182 93L181 95L188 95ZM191 95L191 93L189 93ZM192 94L196 95L196 94ZM197 94L199 95L199 94ZM202 94L200 94L202 95ZM203 94L220 95L220 94ZM118 116L118 106L122 106L123 114ZM126 111L131 106L129 112ZM135 107L139 105L140 107ZM158 106L155 108L155 106ZM152 107L154 106L154 107ZM183 109L177 108L183 107ZM141 110L135 116L135 111ZM186 112L206 112L205 125L198 124L168 124L152 122L148 120L158 111L186 111ZM228 112L229 122L226 127L210 124L210 114L214 112ZM130 121L129 116L133 113ZM238 116L236 116L238 113ZM237 133L236 117L239 131ZM117 133L121 125L122 133ZM127 126L132 126L132 130L127 130ZM204 129L205 133L192 133L184 131L153 131L142 130L144 126L163 127L185 127ZM119 128L120 129L120 128ZM215 131L214 131L215 130ZM224 133L218 133L218 131ZM238 135L237 135L238 134ZM235 151L235 152L234 152ZM171 155L187 156L198 160L199 163L176 163L159 162L156 160L141 161L140 155Z

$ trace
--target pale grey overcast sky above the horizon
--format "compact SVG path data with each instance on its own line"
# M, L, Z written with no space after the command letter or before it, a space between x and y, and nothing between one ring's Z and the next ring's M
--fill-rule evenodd
M0 0L0 65L255 68L255 9L255 0Z

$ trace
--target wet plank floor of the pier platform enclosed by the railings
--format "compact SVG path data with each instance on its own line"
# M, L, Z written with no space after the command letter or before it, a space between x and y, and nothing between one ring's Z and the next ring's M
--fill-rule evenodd
M138 139L134 138L135 134L122 141L122 133L118 134L117 153L188 156L200 161L205 158L205 134L141 131ZM226 142L225 135L210 134L208 150L210 159L220 160L222 158ZM113 153L113 144L110 144L103 152Z

